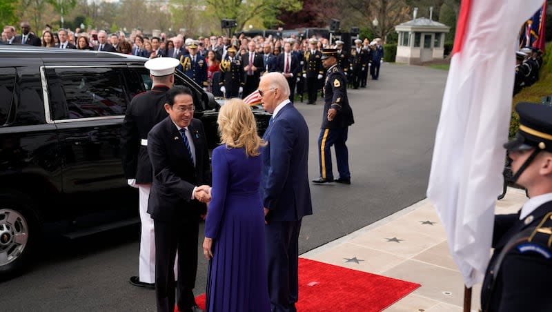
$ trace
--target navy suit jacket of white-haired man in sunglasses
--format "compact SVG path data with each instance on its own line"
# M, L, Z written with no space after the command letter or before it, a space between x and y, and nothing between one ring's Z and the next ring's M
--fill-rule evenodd
M313 214L308 184L308 126L293 104L273 118L263 139L261 198L270 221L301 220ZM269 222L270 222L269 221Z

